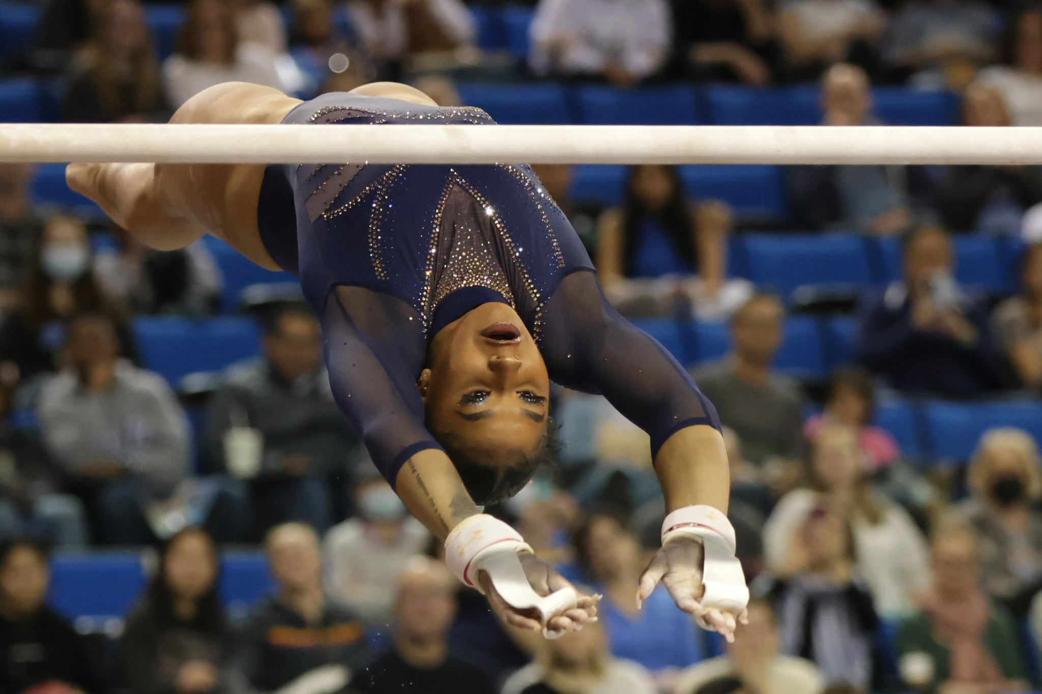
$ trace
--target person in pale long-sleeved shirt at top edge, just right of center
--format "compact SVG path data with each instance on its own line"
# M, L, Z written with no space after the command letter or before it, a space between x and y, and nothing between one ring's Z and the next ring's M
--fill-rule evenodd
M667 0L540 0L528 61L539 75L629 87L665 66L671 31Z

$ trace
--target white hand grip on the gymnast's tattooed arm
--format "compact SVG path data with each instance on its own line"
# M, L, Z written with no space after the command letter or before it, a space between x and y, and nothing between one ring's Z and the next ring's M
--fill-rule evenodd
M471 560L471 572L476 576L475 570L487 572L492 587L515 610L538 611L544 637L556 639L563 635L563 632L548 629L546 623L551 617L574 609L578 605L578 594L572 588L562 588L545 596L532 590L521 566L517 544L503 542L482 549Z

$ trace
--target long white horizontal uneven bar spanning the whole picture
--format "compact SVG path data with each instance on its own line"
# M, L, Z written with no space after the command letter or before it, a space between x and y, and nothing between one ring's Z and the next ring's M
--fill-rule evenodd
M1042 164L1042 128L10 124L0 161Z

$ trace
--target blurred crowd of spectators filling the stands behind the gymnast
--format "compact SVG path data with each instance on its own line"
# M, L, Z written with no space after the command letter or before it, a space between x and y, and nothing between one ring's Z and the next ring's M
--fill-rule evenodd
M476 4L476 3L475 3ZM48 0L5 74L64 78L75 122L165 121L244 80L307 98L408 80L753 87L820 83L822 123L880 123L873 85L960 95L968 126L1042 125L1042 7L1008 0L540 0L528 59L477 48L462 0L191 0L159 62L138 0ZM659 543L646 435L561 390L557 466L491 511L601 619L557 641L500 625L460 591L332 402L319 326L260 303L263 354L202 387L148 370L141 315L219 312L207 246L174 253L35 206L32 166L0 165L0 692L20 694L819 694L1027 691L1042 662L1042 458L1014 428L968 461L919 466L875 426L888 399L1037 400L1037 166L797 166L775 226L899 238L900 278L796 305L730 269L725 203L678 171L628 171L618 207L570 199L537 166L626 315L725 322L692 364L725 426L729 516L751 582L736 643L700 632L637 576ZM1012 294L956 277L956 234L1019 250ZM99 240L103 242L99 242ZM821 299L821 298L819 298ZM797 381L773 362L788 313L852 316L851 365ZM199 344L205 351L207 344ZM175 389L176 388L176 389ZM957 463L966 463L965 465ZM245 616L218 594L220 546L259 544L275 592ZM122 636L45 605L49 551L159 548ZM241 617L241 618L240 618Z

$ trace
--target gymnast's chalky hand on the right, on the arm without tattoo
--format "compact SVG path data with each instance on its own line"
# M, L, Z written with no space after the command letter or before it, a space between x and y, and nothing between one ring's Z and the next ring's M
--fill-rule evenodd
M705 592L702 585L703 552L702 543L694 539L677 539L660 549L641 574L637 606L639 608L662 582L676 607L694 615L699 626L719 632L728 642L734 642L736 620L748 623L746 611L735 615L726 610L704 607L699 601Z

